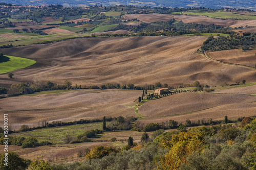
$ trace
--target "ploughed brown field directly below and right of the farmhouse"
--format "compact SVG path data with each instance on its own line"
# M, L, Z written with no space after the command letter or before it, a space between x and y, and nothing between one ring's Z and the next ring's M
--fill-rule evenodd
M255 101L255 96L244 94L179 93L143 104L139 112L146 118L140 121L147 124L174 119L184 123L186 119L224 119L225 115L237 119L255 115Z

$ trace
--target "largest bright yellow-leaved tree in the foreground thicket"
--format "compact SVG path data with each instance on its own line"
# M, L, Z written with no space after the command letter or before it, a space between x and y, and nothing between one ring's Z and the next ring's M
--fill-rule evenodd
M172 136L169 145L170 151L161 160L161 167L158 169L180 169L181 163L187 163L187 156L203 150L205 141L201 134L181 132Z

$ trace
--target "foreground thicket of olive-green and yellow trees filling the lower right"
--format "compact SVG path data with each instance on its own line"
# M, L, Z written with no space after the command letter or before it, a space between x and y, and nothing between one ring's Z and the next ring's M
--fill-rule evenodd
M94 147L80 163L53 164L51 168L249 170L256 166L256 119L244 128L238 125L202 126L188 132L163 133L161 130L153 136L153 142L131 149Z

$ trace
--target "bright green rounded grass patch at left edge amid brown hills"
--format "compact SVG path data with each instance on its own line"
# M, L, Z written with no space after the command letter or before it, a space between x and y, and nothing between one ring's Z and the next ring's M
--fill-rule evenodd
M6 72L14 71L20 68L26 68L30 65L35 64L36 61L20 58L20 57L13 57L13 56L4 56L0 60L0 74L4 74Z

